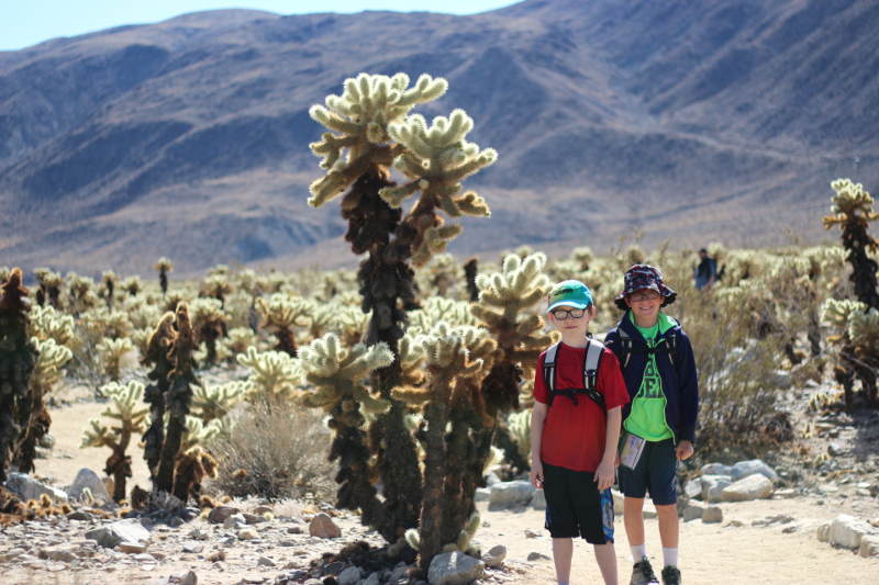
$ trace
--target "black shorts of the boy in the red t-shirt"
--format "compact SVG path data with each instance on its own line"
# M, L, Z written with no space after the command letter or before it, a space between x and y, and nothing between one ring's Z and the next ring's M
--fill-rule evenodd
M613 542L613 496L610 490L599 492L593 473L544 463L543 492L546 529L553 538Z

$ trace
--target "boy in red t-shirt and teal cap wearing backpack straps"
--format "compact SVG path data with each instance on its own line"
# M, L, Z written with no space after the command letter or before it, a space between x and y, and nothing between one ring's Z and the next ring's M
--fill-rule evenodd
M610 487L621 406L628 393L616 356L589 337L596 306L586 284L566 280L553 286L547 316L561 341L537 360L531 481L546 496L546 528L559 585L569 582L576 537L593 545L605 585L615 585Z

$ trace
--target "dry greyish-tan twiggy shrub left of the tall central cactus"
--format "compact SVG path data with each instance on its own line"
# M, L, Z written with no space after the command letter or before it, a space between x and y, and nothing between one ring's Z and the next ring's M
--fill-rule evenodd
M229 435L208 446L220 462L208 490L272 500L333 497L336 469L326 459L332 435L321 414L289 403L271 409L256 403L232 417Z

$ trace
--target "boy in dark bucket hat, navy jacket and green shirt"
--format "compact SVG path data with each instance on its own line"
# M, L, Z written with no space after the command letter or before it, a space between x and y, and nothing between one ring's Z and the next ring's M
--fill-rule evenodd
M635 265L625 272L616 306L625 311L604 342L623 364L628 397L623 406L619 477L623 521L632 549L631 585L658 583L647 558L644 497L649 492L659 520L665 585L680 584L678 461L693 454L699 382L690 339L661 307L677 294L658 269Z

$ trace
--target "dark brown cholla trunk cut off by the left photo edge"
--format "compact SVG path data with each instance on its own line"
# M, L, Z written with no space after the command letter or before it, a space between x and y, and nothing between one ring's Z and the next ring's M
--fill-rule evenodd
M20 413L29 401L31 375L38 357L27 331L29 291L20 268L0 285L0 484L13 457L21 427Z

